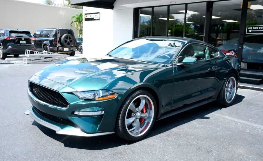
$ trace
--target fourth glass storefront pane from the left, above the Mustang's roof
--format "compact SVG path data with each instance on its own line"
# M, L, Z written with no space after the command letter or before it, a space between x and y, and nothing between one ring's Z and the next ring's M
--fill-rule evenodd
M180 12L185 12L184 10ZM185 37L204 40L206 2L188 4Z

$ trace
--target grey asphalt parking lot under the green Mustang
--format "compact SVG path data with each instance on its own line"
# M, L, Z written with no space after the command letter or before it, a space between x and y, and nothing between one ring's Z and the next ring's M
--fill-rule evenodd
M263 92L238 89L234 105L210 103L156 122L126 142L57 135L24 115L27 81L49 64L0 64L0 160L263 160Z

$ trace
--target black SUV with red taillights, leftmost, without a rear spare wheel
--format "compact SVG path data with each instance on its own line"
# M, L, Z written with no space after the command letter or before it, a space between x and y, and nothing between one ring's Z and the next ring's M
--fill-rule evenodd
M0 29L0 59L7 55L18 57L25 54L26 49L36 51L35 38L27 30Z

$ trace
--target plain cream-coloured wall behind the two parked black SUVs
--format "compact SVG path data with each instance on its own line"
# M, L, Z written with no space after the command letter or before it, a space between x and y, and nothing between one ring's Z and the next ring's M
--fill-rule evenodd
M15 0L0 0L0 29L27 29L32 34L42 28L73 29L70 26L71 16L81 13L81 9L42 5Z

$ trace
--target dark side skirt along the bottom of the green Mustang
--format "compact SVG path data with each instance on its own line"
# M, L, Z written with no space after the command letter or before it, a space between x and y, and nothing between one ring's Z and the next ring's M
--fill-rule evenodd
M187 110L191 110L195 107L199 107L199 106L202 106L204 104L208 104L210 102L213 102L213 101L216 101L216 99L209 99L209 100L204 100L204 101L201 101L201 102L198 102L196 104L193 104L193 105L190 105L188 107L184 107L184 108L180 108L180 109L175 109L175 110L172 110L171 112L169 113L165 113L164 115L161 115L161 117L159 117L157 119L157 121L161 120L161 119L165 119L166 117L170 117L170 116L173 116L173 115L176 115L178 113L182 113L184 111L187 111Z

